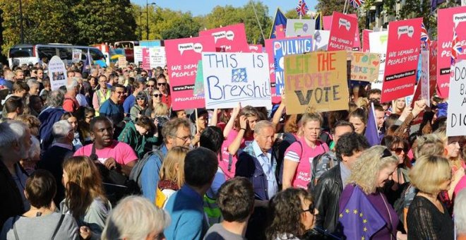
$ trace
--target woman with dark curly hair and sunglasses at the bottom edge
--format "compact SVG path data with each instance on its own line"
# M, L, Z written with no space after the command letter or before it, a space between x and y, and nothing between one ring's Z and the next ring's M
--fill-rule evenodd
M303 188L287 188L269 203L271 224L265 230L268 240L301 239L316 224L318 210L311 193Z

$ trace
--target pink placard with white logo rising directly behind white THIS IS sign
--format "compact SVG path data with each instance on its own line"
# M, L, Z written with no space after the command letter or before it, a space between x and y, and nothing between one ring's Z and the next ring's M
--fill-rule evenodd
M201 31L199 36L213 36L217 52L249 52L243 23Z

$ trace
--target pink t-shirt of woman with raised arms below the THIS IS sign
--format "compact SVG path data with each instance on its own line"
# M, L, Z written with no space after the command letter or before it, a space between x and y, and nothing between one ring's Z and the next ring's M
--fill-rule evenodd
M223 173L225 174L225 179L232 179L234 178L234 173L236 171L236 164L237 164L237 154L232 155L232 164L230 165L230 169L228 171L228 165L229 165L229 152L228 152L228 146L233 143L234 138L237 138L238 136L238 131L232 129L232 131L229 131L227 139L223 141L222 143L222 160L218 163L218 167L222 169ZM241 139L241 145L239 146L239 149L246 148L254 138L251 136L251 138L242 138ZM239 152L239 149L237 152Z

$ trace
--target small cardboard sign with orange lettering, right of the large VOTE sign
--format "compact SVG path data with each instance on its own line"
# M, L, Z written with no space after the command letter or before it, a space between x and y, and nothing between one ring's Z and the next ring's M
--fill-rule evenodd
M347 59L351 61L351 80L374 82L378 78L380 54L369 52L347 52Z

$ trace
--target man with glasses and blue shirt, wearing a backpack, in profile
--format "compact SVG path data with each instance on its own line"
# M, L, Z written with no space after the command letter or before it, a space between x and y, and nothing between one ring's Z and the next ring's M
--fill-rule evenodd
M191 144L191 123L188 119L172 119L167 121L162 129L164 143L160 149L153 151L152 155L145 162L141 172L141 190L143 196L151 203L155 203L155 190L159 181L160 167L162 161L167 156L167 152L177 146L188 147Z

